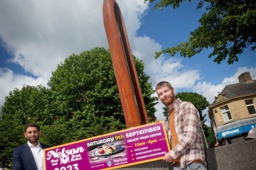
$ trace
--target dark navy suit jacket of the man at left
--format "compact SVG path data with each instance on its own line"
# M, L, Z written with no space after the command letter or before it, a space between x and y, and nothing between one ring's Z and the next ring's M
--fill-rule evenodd
M45 145L40 143L43 149L50 147L50 145ZM36 167L35 159L31 152L28 143L14 148L13 151L13 169L14 170L38 170Z

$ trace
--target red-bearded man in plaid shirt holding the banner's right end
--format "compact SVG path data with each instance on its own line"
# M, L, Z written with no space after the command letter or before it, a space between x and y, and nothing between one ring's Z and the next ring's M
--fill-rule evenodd
M171 152L165 154L164 161L171 162L174 170L207 169L200 116L196 107L176 98L174 88L168 81L156 85L156 94L169 108L166 127Z

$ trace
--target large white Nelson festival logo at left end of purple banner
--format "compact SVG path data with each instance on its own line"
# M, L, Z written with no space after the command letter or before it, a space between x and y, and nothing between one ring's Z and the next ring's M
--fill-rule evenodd
M75 154L80 154L82 152L84 152L85 149L83 147L78 147L76 149L65 149L65 147L63 149L61 149L59 151L59 149L55 149L55 150L50 150L47 153L47 160L50 159L60 159L60 163L61 164L67 164L68 162L70 162L70 156L75 155Z

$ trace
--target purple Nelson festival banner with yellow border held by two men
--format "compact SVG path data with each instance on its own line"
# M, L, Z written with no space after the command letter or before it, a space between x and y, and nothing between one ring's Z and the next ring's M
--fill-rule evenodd
M164 123L151 123L44 150L46 170L117 169L163 159Z

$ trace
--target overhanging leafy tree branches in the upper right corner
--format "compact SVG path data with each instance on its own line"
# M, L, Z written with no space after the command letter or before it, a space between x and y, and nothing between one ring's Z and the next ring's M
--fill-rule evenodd
M144 0L153 3L155 0ZM191 0L188 0L191 1ZM172 6L178 8L183 0L161 0L154 8ZM255 0L201 0L197 8L206 8L206 13L199 20L201 26L190 33L187 42L176 47L169 47L156 52L155 57L169 53L174 56L180 52L182 57L193 57L203 49L212 49L208 56L215 57L214 62L220 64L228 57L228 64L238 62L238 55L245 48L256 48L256 3Z

